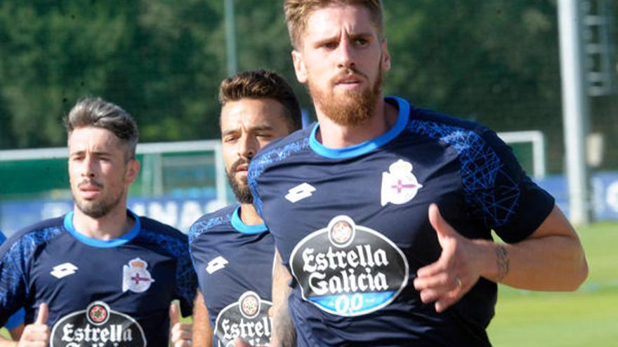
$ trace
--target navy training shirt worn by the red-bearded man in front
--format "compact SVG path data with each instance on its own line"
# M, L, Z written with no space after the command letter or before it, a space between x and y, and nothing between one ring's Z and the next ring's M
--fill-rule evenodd
M490 346L497 285L481 278L443 313L423 304L416 271L438 260L437 203L466 238L530 236L554 206L495 132L399 97L390 130L329 149L319 125L251 161L254 202L293 275L298 346Z

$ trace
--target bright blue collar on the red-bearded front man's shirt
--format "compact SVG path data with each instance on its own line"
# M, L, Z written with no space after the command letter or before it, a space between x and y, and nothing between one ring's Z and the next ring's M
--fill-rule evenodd
M385 100L394 100L397 102L397 107L399 107L399 116L397 116L397 121L395 122L395 125L393 125L393 128L390 128L390 130L383 133L379 137L350 147L332 149L325 147L324 144L321 144L315 139L317 128L320 127L320 123L317 123L311 131L311 135L309 135L309 147L311 147L315 153L320 154L320 156L325 156L331 159L339 159L360 156L361 154L373 151L374 149L387 144L405 129L410 114L410 104L400 97L386 97Z

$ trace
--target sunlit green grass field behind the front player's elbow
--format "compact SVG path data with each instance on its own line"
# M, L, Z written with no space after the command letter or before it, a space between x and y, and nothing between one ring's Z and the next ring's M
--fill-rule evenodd
M496 347L617 346L618 223L578 229L588 258L586 283L574 293L499 288L489 339ZM1 332L3 336L6 331Z

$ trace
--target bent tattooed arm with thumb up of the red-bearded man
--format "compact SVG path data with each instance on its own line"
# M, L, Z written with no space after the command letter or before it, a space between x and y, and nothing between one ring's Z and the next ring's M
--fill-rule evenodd
M464 238L437 205L429 207L429 219L442 254L417 271L414 287L437 311L459 301L480 277L525 290L572 291L588 276L577 233L556 206L534 233L511 245Z

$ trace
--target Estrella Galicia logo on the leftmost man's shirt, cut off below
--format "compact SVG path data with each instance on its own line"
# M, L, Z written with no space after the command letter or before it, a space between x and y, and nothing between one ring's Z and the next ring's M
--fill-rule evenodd
M60 318L51 330L50 346L145 347L146 337L131 316L112 311L103 301L95 301L84 311Z

